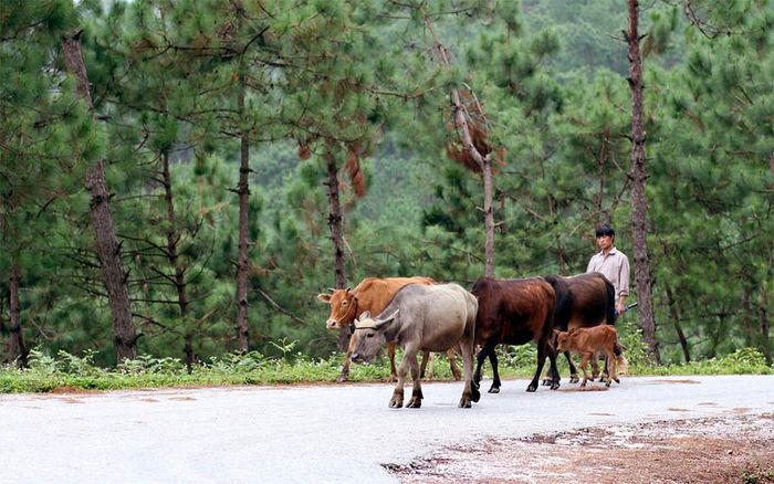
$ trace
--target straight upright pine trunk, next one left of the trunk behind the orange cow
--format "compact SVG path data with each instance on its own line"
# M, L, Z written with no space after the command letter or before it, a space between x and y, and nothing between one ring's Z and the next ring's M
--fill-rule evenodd
M244 82L240 76L239 112L244 112ZM250 141L247 133L241 136L241 162L239 168L239 255L237 260L237 339L239 349L249 349L248 329L248 275L250 261L248 259L248 222L250 208Z

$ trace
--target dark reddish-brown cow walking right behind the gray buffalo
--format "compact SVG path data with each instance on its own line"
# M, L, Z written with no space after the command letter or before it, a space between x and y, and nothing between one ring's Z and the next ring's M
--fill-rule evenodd
M543 277L523 280L494 280L481 277L471 293L479 298L479 313L475 318L475 344L481 345L473 382L481 381L481 366L487 357L492 364L493 381L490 393L500 392L500 373L496 345L537 344L537 370L526 391L537 390L537 381L543 370L546 356L551 360L551 373L555 376L558 388L556 355L548 347L554 329L554 302L556 296L551 284Z

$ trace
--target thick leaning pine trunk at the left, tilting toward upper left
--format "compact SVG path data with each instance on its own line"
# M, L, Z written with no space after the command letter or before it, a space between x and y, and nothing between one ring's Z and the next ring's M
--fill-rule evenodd
M64 36L62 39L62 50L67 72L76 81L76 93L93 109L88 76L81 52L81 32ZM96 160L88 168L85 187L91 197L90 209L97 257L103 271L107 301L113 315L116 357L121 362L125 359L137 357L137 333L132 323L132 305L126 282L128 273L121 263L121 246L115 236L113 214L111 213L111 193L105 181L104 160Z

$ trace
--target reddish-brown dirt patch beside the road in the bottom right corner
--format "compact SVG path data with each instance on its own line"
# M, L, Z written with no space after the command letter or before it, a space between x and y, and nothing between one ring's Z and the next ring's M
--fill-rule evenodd
M774 483L774 413L484 440L385 467L402 483Z

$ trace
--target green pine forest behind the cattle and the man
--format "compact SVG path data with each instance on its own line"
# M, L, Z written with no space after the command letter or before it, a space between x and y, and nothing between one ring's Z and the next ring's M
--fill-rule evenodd
M326 358L328 287L472 286L485 177L457 93L495 276L584 272L609 222L649 267L657 361L771 365L774 8L639 19L645 261L626 1L3 0L0 359Z

